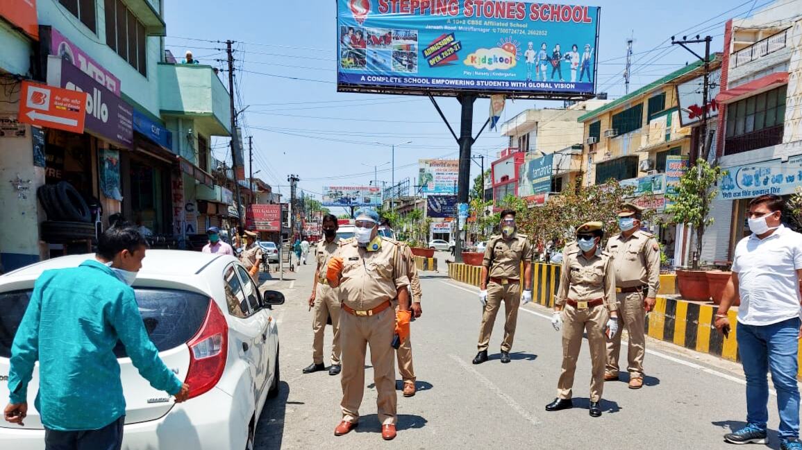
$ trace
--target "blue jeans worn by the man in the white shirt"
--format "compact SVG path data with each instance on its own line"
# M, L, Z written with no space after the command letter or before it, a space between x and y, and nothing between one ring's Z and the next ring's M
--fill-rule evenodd
M765 326L738 323L738 348L747 377L747 422L766 429L766 373L771 371L780 410L780 439L797 438L800 433L800 391L796 386L799 330L798 318Z

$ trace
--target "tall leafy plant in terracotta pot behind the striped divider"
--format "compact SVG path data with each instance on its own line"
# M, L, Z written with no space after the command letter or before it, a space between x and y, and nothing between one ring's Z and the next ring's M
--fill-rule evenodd
M705 228L713 223L713 219L708 215L711 203L718 192L715 186L721 175L719 167L712 167L707 160L700 158L695 166L679 179L676 194L670 195L674 203L666 208L672 223L683 223L696 231L696 250L691 258L691 268L677 270L679 294L683 299L706 302L711 298L707 271L699 269L699 259L702 255ZM718 279L716 275L711 277ZM718 284L716 286L718 289Z

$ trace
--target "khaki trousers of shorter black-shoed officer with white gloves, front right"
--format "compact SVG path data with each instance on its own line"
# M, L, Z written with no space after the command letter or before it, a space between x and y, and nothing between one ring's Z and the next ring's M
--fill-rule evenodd
M582 332L588 333L590 361L590 401L597 402L604 390L605 328L610 312L603 305L579 311L566 304L562 310L562 372L557 380L557 397L570 399L573 396L573 375L577 370L577 358L582 344Z

